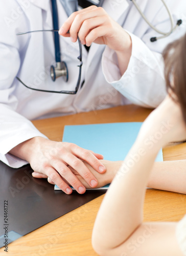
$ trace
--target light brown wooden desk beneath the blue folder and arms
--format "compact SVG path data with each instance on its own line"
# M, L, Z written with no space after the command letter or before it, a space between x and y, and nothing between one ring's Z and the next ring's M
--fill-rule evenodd
M135 105L80 113L77 115L33 121L34 125L50 139L61 141L64 125L107 122L144 121L151 110ZM185 158L186 144L177 144L163 150L164 160ZM91 231L104 196L101 196L57 220L38 228L9 245L9 255L17 256L93 256ZM186 212L186 196L182 194L147 190L145 221L178 221ZM7 255L3 248L0 255Z

